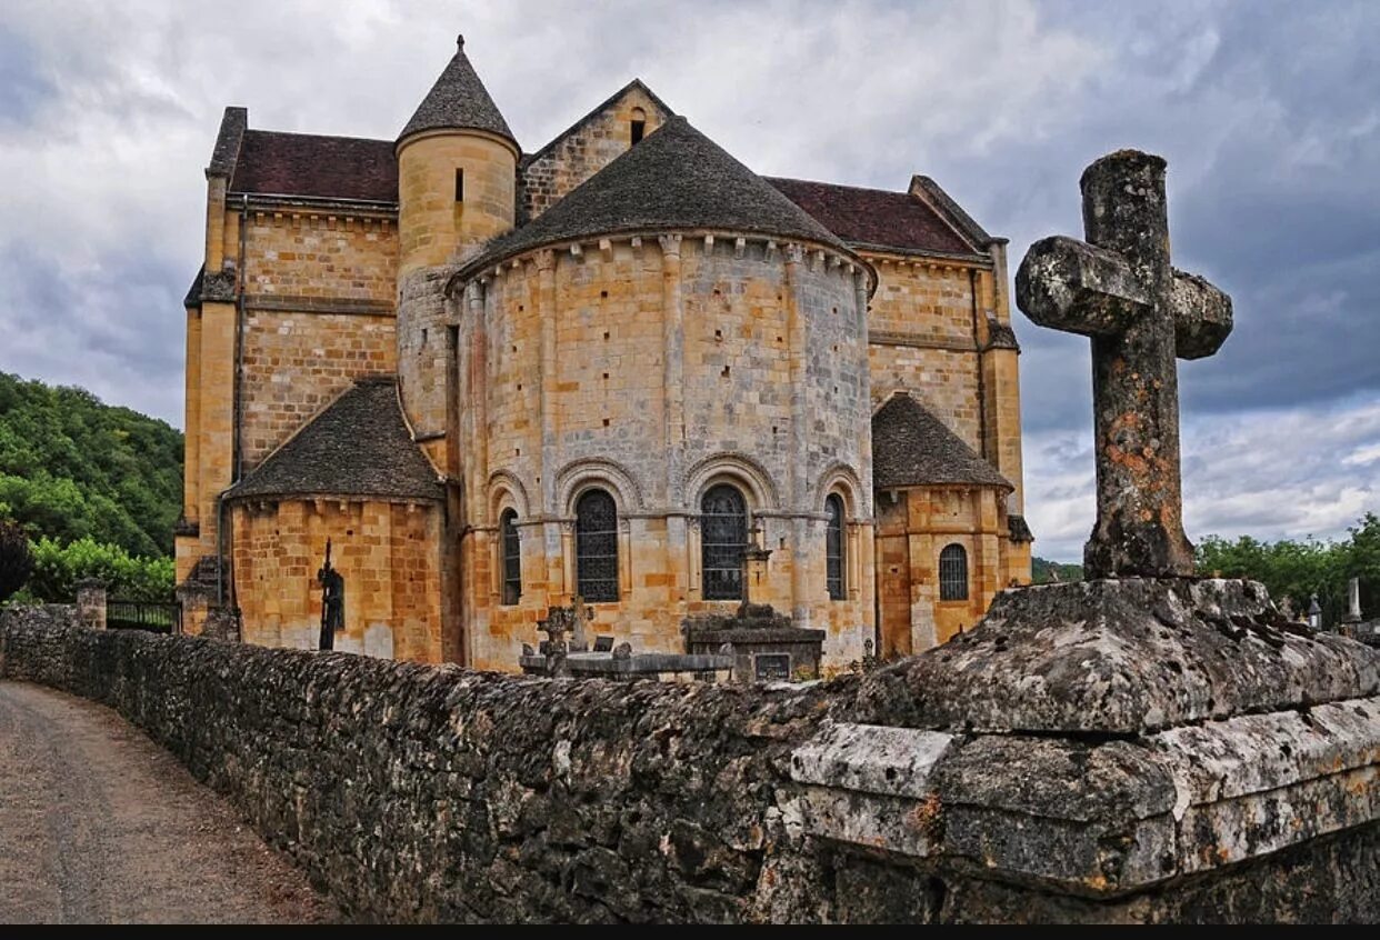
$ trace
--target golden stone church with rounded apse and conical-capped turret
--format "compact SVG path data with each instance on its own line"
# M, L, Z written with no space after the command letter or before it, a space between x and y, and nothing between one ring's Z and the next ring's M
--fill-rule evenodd
M190 632L515 669L549 606L682 652L753 588L825 665L1028 582L1006 242L759 177L632 81L534 152L464 43L396 141L228 108L186 297Z

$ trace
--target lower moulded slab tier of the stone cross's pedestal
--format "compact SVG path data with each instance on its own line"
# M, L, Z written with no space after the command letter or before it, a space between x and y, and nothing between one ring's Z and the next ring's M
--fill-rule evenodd
M835 725L792 755L805 831L1114 897L1380 819L1380 697L1100 744Z

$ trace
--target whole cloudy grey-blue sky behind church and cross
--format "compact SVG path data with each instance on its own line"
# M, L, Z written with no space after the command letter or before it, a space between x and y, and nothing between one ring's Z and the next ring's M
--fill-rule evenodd
M1231 293L1181 363L1185 523L1334 537L1380 511L1380 4L1012 0L0 6L0 370L182 424L182 294L221 109L392 139L465 50L534 150L629 79L762 174L934 177L1012 269L1078 177L1169 160L1177 266ZM1093 520L1087 341L1016 313L1035 551Z

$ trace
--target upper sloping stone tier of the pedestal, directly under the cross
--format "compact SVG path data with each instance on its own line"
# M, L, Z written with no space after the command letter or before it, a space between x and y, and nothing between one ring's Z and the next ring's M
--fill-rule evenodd
M1286 621L1260 584L1112 578L1005 591L973 631L871 674L858 721L1136 736L1376 693L1376 650Z

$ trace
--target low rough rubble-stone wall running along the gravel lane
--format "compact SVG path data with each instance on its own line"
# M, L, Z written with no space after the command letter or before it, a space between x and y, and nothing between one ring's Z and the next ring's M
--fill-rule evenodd
M0 611L0 678L115 708L362 921L1380 917L1373 824L1110 900L809 836L792 752L858 714L856 679L549 680L44 620Z

